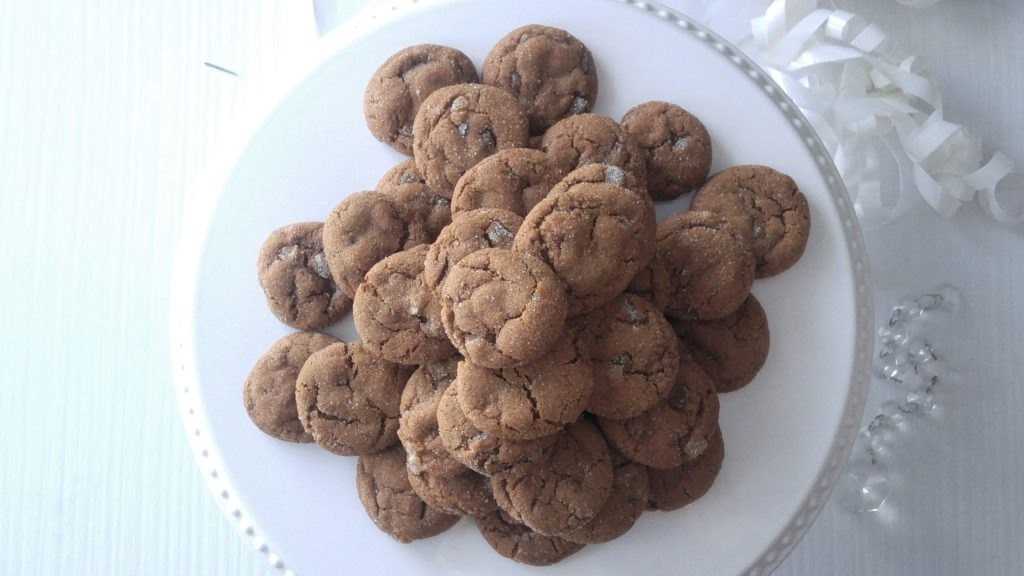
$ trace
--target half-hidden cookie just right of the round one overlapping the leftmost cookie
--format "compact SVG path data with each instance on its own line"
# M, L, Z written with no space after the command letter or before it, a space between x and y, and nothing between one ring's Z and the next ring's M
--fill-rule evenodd
M437 429L437 407L444 390L455 380L459 360L453 357L420 366L401 390L398 440L406 450L407 465L412 474L453 476L466 469L449 454Z

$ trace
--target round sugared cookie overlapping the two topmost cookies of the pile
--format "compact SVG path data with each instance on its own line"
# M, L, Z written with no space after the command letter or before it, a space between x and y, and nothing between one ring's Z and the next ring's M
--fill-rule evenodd
M416 167L435 194L451 198L459 178L507 148L523 148L526 116L515 97L494 86L457 84L430 94L413 124Z

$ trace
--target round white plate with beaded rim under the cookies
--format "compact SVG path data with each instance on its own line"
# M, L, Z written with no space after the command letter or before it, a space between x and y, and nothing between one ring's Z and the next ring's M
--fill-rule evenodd
M541 23L570 31L593 51L597 112L618 118L649 99L682 105L712 134L714 169L762 163L787 172L807 195L813 223L797 265L755 284L771 352L752 384L722 397L726 458L711 492L682 510L646 513L623 538L544 572L732 576L776 566L827 498L867 382L862 242L817 137L744 56L652 2L439 0L384 8L327 39L302 80L267 97L265 113L218 166L208 213L186 235L172 316L178 398L224 510L272 564L304 576L538 571L495 553L470 521L413 544L393 541L356 498L355 458L264 436L247 418L241 390L256 359L289 332L267 312L256 282L263 239L287 223L323 219L401 160L362 120L362 91L377 66L421 42L456 46L479 66L505 33ZM334 332L354 337L350 325Z

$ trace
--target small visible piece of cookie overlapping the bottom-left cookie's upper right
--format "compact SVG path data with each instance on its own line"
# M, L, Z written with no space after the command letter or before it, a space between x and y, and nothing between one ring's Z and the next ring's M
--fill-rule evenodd
M454 475L409 470L409 484L424 502L445 513L480 517L498 508L490 480L469 468Z

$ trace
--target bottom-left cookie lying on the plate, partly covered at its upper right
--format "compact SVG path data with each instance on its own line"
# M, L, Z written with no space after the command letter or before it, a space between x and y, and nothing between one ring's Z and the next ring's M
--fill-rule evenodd
M370 520L399 542L436 536L459 522L458 516L428 505L416 494L400 446L359 456L355 488Z

